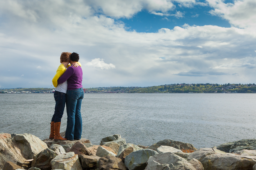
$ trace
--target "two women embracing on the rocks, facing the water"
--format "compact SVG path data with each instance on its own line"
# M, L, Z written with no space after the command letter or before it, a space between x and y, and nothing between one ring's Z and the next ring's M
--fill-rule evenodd
M60 56L61 65L53 77L55 88L55 111L51 119L51 133L49 139L54 141L79 140L82 136L81 103L83 99L81 64L79 55L75 52L63 52ZM65 138L60 136L60 123L66 103L67 129Z

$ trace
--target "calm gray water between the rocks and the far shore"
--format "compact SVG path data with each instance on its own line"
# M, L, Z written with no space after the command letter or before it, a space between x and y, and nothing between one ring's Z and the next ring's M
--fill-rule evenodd
M99 144L120 134L127 143L150 146L163 139L196 148L256 137L256 95L214 93L85 93L83 138ZM53 94L0 94L0 133L50 135ZM67 113L61 122L65 131Z

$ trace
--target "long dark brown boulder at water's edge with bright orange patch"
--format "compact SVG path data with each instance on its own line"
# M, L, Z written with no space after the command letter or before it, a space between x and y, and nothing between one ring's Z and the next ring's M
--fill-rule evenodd
M157 151L157 148L159 148L160 146L171 146L171 147L179 149L185 153L191 153L196 150L196 148L193 146L193 144L174 141L174 140L170 140L170 139L165 139L163 141L159 141L155 144L152 144L151 146L148 147L148 149Z

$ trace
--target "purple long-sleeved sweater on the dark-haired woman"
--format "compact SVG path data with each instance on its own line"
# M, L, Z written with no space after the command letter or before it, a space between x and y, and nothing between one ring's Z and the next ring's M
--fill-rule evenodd
M65 73L58 79L58 84L64 83L68 80L68 89L67 90L75 90L82 86L83 79L83 71L80 66L73 67L70 66L67 68Z

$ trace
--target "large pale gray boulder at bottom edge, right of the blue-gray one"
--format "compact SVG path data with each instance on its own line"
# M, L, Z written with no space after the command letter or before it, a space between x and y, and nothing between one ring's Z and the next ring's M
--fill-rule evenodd
M178 155L167 152L151 156L147 161L146 169L150 170L203 170L203 165L196 159L192 159L191 163Z

